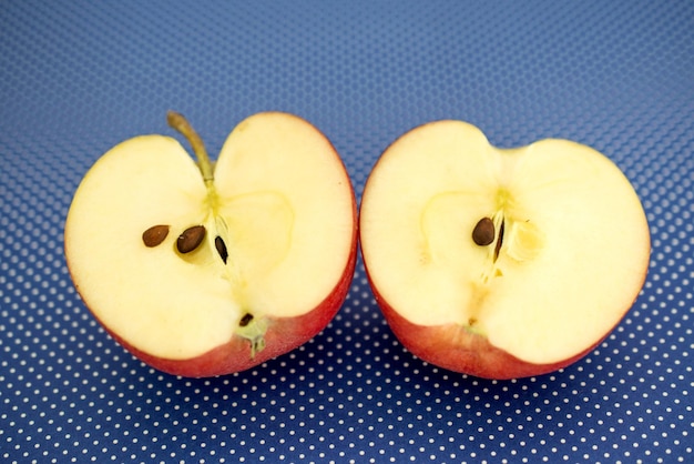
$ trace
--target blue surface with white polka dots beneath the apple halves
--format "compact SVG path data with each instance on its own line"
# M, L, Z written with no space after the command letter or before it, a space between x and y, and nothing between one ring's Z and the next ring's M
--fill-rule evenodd
M4 2L0 460L8 463L676 463L694 460L694 3ZM215 153L248 114L309 120L360 199L437 119L610 157L652 233L643 291L588 356L487 381L392 335L357 264L333 322L242 373L183 379L118 345L74 291L65 214L115 143L183 112Z

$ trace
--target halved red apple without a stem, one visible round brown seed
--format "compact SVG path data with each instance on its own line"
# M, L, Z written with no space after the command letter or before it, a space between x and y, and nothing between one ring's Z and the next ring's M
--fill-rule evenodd
M382 153L359 236L376 301L404 346L497 380L590 353L639 295L651 251L642 204L603 154L557 139L499 149L451 120Z

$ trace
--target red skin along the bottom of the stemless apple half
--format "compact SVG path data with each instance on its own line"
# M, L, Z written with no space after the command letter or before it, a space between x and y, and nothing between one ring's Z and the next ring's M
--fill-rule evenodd
M509 380L554 372L591 353L611 332L608 332L604 337L584 351L567 360L551 364L533 364L492 345L487 337L472 333L460 325L425 326L409 322L378 293L369 276L368 269L366 269L366 274L386 322L410 353L432 365L480 379Z

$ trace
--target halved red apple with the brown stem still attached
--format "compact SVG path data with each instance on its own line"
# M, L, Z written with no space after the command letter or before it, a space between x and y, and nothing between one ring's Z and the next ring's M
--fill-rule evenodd
M142 135L100 158L64 230L73 283L95 319L149 365L223 375L307 342L334 317L357 253L354 191L314 125L264 112L241 122L216 163L191 143Z

